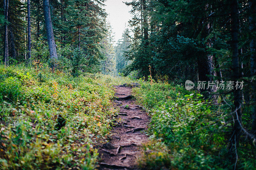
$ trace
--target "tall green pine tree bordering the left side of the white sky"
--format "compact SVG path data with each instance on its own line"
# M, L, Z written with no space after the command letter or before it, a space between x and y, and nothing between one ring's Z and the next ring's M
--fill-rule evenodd
M102 1L70 0L66 8L66 41L80 51L86 71L98 70L99 60L102 58L99 43L103 38L102 18L106 17L106 13L100 8L101 5Z

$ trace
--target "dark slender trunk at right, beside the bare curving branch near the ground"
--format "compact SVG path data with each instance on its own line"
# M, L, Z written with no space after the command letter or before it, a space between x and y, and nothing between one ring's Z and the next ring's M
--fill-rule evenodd
M238 51L238 24L239 24L239 14L238 14L238 2L237 0L231 1L231 50L232 50L232 64L233 64L233 79L234 81L239 81L240 74L240 64L239 64L239 51ZM239 144L239 138L241 135L241 127L242 127L242 96L241 90L238 88L234 88L234 126L233 131L230 137L230 145L229 145L229 153L231 154L231 161L234 165L234 169L236 169L237 163L237 146Z

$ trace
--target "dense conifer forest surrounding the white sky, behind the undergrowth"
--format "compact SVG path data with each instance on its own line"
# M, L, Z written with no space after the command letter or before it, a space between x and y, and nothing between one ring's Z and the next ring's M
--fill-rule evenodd
M133 18L115 45L104 0L3 0L1 64L47 63L74 77L101 72L181 86L186 80L206 82L208 88L194 90L210 101L212 116L223 119L227 128L210 131L225 134L222 142L232 165L241 160L245 163L239 167L246 167L247 158L255 167L256 1L125 4L132 7ZM243 86L237 88L240 82ZM209 83L214 85L209 88ZM229 88L221 89L219 83Z

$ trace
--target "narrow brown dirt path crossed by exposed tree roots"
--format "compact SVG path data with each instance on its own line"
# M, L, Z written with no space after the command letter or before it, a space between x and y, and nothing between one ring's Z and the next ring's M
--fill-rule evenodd
M99 148L100 168L108 169L137 169L136 160L140 156L142 143L148 140L145 130L149 117L135 99L130 98L132 88L115 86L113 107L120 107L117 126L111 130L109 143ZM127 97L128 96L128 97ZM127 108L127 105L129 108Z

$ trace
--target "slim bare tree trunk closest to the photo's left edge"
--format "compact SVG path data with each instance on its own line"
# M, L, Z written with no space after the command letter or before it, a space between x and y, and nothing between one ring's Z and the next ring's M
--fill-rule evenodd
M9 53L8 53L8 26L7 26L7 21L8 21L8 5L9 5L9 0L4 0L4 16L5 16L5 26L4 26L4 65L8 66L9 65Z

